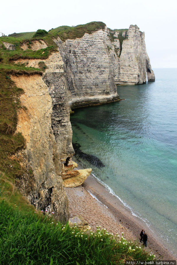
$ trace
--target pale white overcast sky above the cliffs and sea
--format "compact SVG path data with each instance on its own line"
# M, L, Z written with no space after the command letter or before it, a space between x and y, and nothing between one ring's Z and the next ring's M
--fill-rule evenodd
M91 21L111 29L137 24L145 32L152 69L177 68L176 0L8 0L0 7L0 32L5 35Z

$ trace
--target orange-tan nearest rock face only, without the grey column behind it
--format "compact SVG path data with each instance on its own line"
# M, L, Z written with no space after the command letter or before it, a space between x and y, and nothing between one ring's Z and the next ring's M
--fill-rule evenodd
M38 75L11 78L23 88L21 102L27 107L18 113L17 131L26 139L26 149L18 157L34 174L22 177L20 190L37 209L54 211L65 222L69 218L68 199L59 176L61 163L51 128L52 100L48 87Z

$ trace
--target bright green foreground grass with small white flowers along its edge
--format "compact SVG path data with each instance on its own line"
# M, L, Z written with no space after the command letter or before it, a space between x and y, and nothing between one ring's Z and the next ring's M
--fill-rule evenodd
M153 260L122 236L97 228L85 232L63 226L40 212L25 212L0 201L0 264L124 264Z

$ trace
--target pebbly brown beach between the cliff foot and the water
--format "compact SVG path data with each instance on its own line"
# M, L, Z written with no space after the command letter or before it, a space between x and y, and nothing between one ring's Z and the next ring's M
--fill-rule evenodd
M77 169L81 168L78 166ZM124 205L108 192L95 177L91 174L85 182L75 188L65 188L69 199L70 217L81 215L95 230L96 226L106 228L110 233L116 234L124 232L126 239L140 243L140 232L144 229L147 233L147 250L156 257L163 260L175 260L173 256L162 244L161 239L146 226L146 224L124 207Z

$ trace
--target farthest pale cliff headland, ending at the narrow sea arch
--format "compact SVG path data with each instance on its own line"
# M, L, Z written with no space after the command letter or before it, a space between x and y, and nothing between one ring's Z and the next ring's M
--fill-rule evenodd
M146 83L146 73L148 81L155 81L146 52L144 32L140 32L137 25L130 25L127 36L128 38L122 43L120 74L116 83L126 85Z

